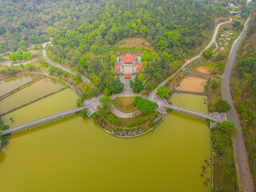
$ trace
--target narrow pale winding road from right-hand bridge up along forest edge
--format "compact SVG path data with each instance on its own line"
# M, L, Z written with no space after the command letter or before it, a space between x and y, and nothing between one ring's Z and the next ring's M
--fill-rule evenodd
M190 58L190 60L188 60L183 66L181 66L174 74L172 74L169 78L166 78L165 81L163 81L158 87L161 87L161 86L164 86L166 84L166 82L168 81L168 79L170 78L173 78L176 74L178 74L178 72L180 72L182 69L184 69L187 65L190 64L190 62L194 62L194 60L200 58L202 56L202 52L209 49L210 46L216 42L216 37L217 37L217 34L218 34L218 29L220 26L224 25L224 24L227 24L227 23L230 23L232 22L232 18L230 18L230 21L229 22L221 22L221 23L218 23L218 25L216 26L215 30L214 30L214 34L213 34L213 37L211 38L210 42L208 43L208 45L199 53L197 54L196 56L194 56L194 58ZM157 87L157 88L158 88ZM156 95L156 92L157 92L157 88L155 88L154 90L151 91L151 93L147 96L147 98L151 101L154 100L155 98L155 95Z

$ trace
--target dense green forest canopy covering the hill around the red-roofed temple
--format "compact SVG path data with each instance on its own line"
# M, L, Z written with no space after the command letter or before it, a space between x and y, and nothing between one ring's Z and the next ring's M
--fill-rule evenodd
M12 0L0 2L0 10L0 52L25 50L53 38L48 57L90 78L96 86L86 89L94 94L113 94L114 83L122 90L114 74L106 72L116 61L115 43L144 38L154 46L154 51L143 51L138 76L152 88L194 54L209 38L214 18L226 14L211 0ZM103 70L113 78L111 85L100 77Z

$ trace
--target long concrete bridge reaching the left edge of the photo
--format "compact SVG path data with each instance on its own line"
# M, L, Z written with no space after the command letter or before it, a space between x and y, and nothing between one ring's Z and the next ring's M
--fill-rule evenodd
M28 129L29 127L38 126L42 123L50 122L50 121L56 120L58 118L65 118L66 116L69 116L71 114L75 114L75 113L81 111L82 109L85 109L85 107L82 106L82 107L78 107L78 108L75 108L75 109L72 109L72 110L66 110L66 111L63 111L63 112L58 113L58 114L52 114L52 115L47 116L45 118L38 118L38 119L36 119L32 122L26 122L26 123L23 123L22 125L14 126L14 127L10 128L10 129L7 129L7 130L2 130L2 135L17 133L19 131Z

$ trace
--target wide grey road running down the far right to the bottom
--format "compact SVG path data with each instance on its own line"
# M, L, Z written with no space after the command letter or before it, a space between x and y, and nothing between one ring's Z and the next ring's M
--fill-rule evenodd
M242 135L242 129L239 122L238 114L234 108L234 103L230 94L230 76L232 72L232 67L236 58L238 46L242 41L242 37L246 34L248 29L248 23L250 18L247 19L245 27L242 30L242 33L235 40L233 46L230 49L230 54L226 62L226 68L222 78L222 98L230 102L232 109L227 112L227 119L231 122L234 122L238 131L234 137L234 157L238 170L238 182L239 186L242 188L242 191L254 191L254 182L250 174L250 167L248 156L246 153L245 141Z

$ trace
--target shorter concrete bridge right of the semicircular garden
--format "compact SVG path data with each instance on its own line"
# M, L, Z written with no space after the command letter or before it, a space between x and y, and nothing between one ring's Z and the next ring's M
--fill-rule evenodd
M196 110L190 110L190 109L186 109L186 108L181 107L181 106L174 106L174 105L169 105L169 104L165 104L165 105L162 105L162 106L165 107L165 108L168 108L168 109L176 110L178 112L183 112L183 113L186 113L186 114L192 114L192 115L198 116L199 118L209 119L210 121L213 121L213 122L221 122L221 119L218 119L216 117L212 117L209 114L204 114L204 113L196 111Z

